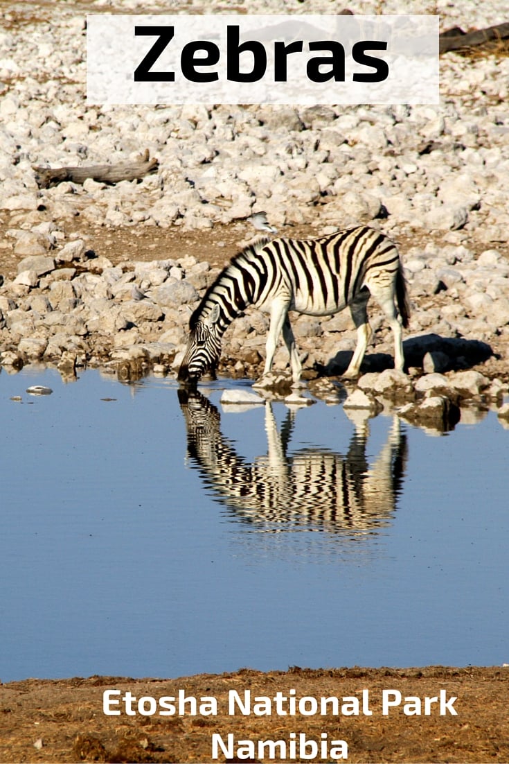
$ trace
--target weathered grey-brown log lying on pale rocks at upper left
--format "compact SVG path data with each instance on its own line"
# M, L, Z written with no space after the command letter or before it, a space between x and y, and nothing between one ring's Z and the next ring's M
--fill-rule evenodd
M159 167L157 159L150 159L147 149L143 156L131 162L118 162L116 164L96 164L91 167L32 167L36 173L37 185L41 189L56 186L64 180L72 183L84 183L87 178L98 183L120 183L121 180L136 180L145 175L155 173Z

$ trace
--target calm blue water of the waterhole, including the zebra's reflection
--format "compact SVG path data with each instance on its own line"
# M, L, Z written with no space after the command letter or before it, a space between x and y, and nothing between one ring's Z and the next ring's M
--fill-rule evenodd
M243 384L2 371L0 679L509 662L497 417L221 406Z

